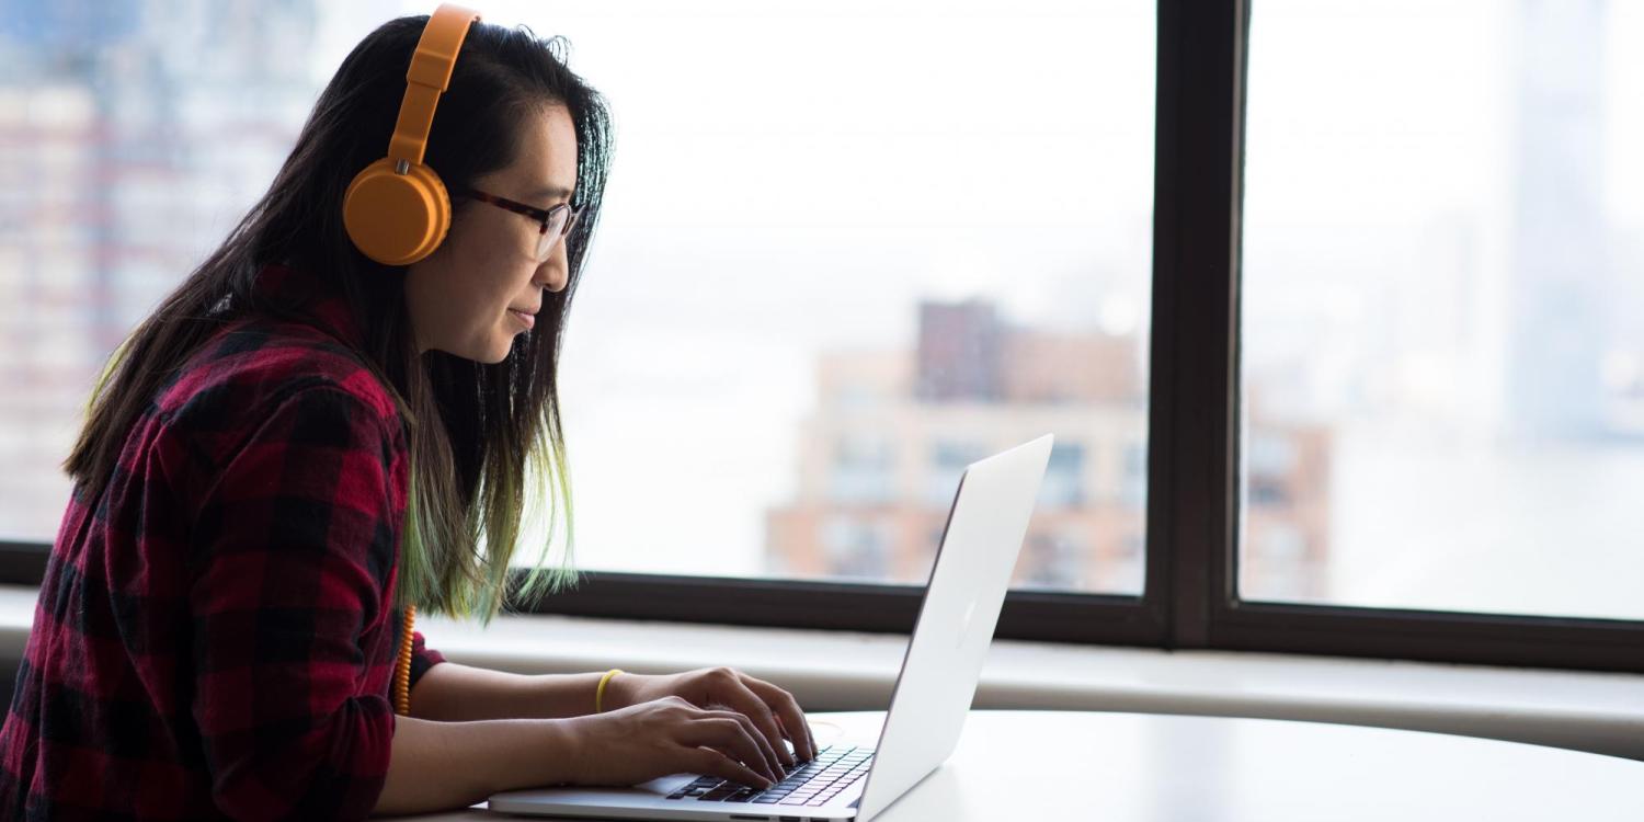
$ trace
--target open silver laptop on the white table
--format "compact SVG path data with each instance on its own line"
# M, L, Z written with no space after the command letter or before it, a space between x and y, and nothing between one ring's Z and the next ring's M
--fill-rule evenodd
M769 791L681 773L633 787L508 791L493 796L490 809L579 819L876 817L958 745L1051 441L1046 434L965 467L875 746L824 748Z

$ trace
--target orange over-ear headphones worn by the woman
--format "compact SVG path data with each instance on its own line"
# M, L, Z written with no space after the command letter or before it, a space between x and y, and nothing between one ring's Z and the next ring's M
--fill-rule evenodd
M450 196L434 169L423 164L434 107L450 85L457 51L478 20L473 10L441 3L423 28L406 71L388 156L365 166L342 199L342 225L353 245L383 265L411 265L434 253L450 229Z

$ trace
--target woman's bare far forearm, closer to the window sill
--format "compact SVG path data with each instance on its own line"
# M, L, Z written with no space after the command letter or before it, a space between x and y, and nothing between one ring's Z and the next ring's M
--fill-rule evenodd
M411 689L411 715L441 722L580 717L593 713L602 674L526 676L441 663Z

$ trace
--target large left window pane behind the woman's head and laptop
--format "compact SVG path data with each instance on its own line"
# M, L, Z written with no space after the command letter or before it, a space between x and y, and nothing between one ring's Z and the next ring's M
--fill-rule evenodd
M7 187L16 345L0 363L26 388L0 409L15 539L54 534L56 464L99 363L266 186L353 41L427 12L288 3L181 26L138 7L18 21L5 112L28 148L8 155L25 184ZM830 575L786 552L865 510L945 518L952 485L932 488L958 472L927 462L942 441L980 459L1092 411L1144 436L1152 87L1087 79L1149 76L1149 3L483 13L566 35L621 141L562 358L585 567Z

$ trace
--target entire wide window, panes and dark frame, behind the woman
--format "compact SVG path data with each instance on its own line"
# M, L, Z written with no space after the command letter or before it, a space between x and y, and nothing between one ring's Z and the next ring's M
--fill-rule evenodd
M906 631L963 465L1051 431L1000 636L1644 671L1644 12L1565 5L487 2L618 132L544 607ZM97 365L427 7L15 12L38 580Z

